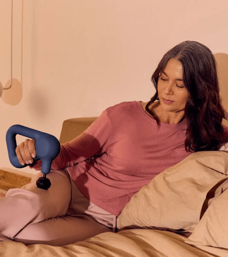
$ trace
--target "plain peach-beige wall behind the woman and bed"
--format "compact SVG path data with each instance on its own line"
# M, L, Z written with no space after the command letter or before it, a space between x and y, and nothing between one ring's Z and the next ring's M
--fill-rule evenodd
M150 77L177 43L196 40L226 58L227 13L226 0L14 0L15 80L0 99L0 168L35 173L8 160L5 134L13 124L59 137L67 118L149 100ZM3 86L10 79L10 16L11 1L1 0Z

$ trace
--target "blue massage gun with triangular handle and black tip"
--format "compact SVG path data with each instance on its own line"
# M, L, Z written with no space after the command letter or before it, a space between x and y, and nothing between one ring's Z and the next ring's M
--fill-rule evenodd
M24 168L28 166L28 164L21 165L17 159L15 152L17 147L17 134L30 137L35 140L36 157L33 158L33 160L37 161L41 159L41 172L43 173L43 177L40 177L36 181L36 185L38 188L47 190L51 186L51 182L48 178L46 178L46 174L50 172L52 161L60 153L60 142L55 136L34 130L32 128L28 128L22 125L11 126L6 132L6 144L9 160L16 168Z

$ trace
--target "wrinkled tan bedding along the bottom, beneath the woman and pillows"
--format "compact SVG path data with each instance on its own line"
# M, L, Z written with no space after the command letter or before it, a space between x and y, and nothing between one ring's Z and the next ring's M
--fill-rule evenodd
M106 232L83 242L67 246L34 244L25 246L14 241L0 242L1 257L212 257L228 256L228 250L204 246L201 249L184 243L182 235L168 231L134 229Z

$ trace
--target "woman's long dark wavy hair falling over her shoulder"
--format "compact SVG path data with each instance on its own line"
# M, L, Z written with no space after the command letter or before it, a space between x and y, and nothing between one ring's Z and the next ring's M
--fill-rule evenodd
M160 126L159 118L148 107L155 100L159 100L158 78L171 58L182 63L183 82L188 91L184 109L184 118L187 121L185 150L216 151L228 141L222 126L222 119L227 120L227 112L221 105L216 60L205 45L188 40L165 53L151 77L156 93L147 103L146 111Z

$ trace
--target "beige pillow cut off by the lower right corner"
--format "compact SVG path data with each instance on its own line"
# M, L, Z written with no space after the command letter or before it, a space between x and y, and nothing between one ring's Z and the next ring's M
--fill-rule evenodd
M228 187L228 182L225 186L226 188ZM228 190L226 188L210 204L199 224L185 243L228 249Z

